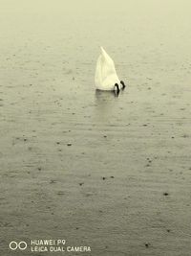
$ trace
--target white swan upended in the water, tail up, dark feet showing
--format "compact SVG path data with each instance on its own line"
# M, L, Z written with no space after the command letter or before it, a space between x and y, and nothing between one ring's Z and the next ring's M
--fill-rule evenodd
M117 93L125 87L124 82L118 79L113 59L109 57L103 47L101 47L101 55L96 62L95 83L98 90L115 90Z

